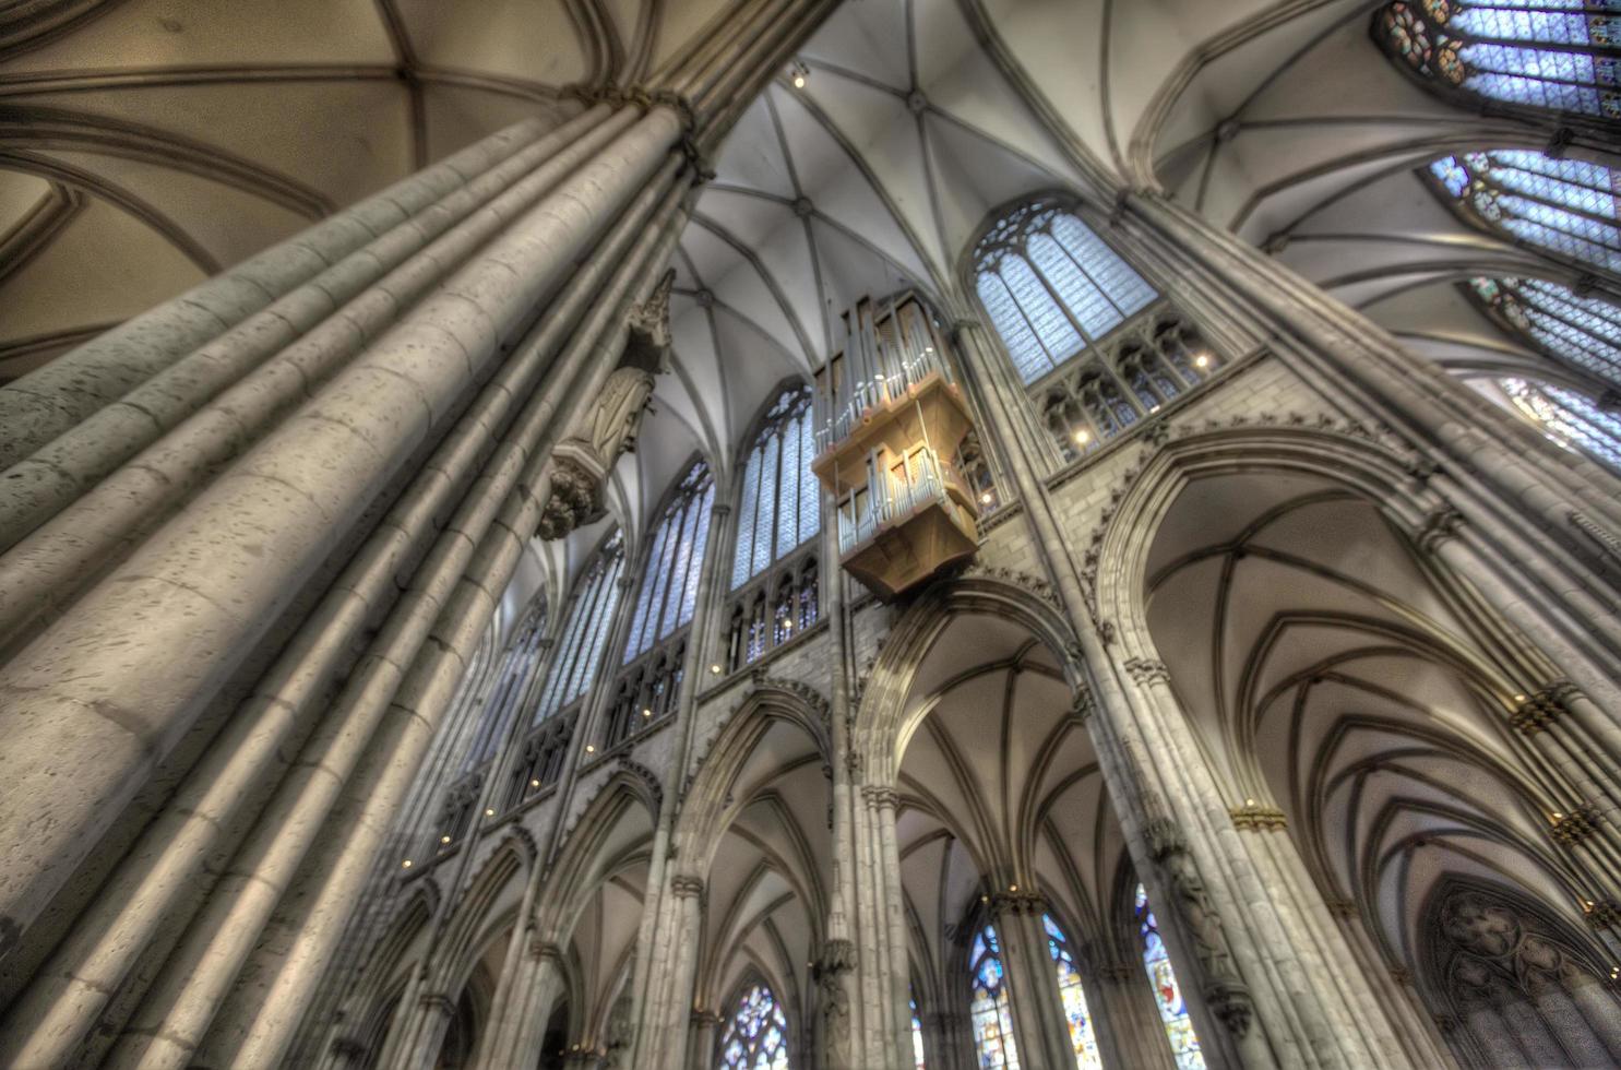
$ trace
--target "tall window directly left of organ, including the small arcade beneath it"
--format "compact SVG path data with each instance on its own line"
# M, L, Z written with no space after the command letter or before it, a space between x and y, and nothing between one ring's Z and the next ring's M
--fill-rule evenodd
M822 486L810 472L810 387L791 386L767 409L742 462L725 663L736 670L820 619L815 540Z

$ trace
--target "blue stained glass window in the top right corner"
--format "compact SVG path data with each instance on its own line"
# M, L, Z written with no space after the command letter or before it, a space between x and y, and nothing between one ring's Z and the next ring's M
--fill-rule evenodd
M1414 0L1378 18L1384 47L1444 88L1621 118L1616 0Z

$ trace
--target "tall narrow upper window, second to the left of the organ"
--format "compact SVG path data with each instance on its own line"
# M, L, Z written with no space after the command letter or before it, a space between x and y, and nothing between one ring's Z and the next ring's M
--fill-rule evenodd
M665 516L653 530L635 616L631 618L631 639L624 645L626 661L634 661L692 619L713 507L715 480L710 478L708 465L699 460L681 477L674 498L665 506Z

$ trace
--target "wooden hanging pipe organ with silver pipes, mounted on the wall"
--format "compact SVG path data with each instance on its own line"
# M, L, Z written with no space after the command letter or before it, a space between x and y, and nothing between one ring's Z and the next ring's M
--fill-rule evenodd
M973 417L916 295L862 300L845 324L817 373L812 470L838 504L840 564L892 598L977 548L981 494L948 460Z

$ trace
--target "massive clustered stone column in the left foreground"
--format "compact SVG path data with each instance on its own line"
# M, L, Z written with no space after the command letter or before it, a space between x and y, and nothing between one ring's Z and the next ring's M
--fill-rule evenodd
M558 413L603 394L702 154L832 5L738 6L671 88L519 123L0 387L0 1060L287 1052L577 496Z

